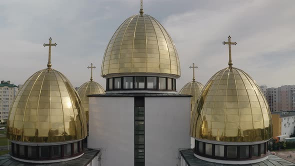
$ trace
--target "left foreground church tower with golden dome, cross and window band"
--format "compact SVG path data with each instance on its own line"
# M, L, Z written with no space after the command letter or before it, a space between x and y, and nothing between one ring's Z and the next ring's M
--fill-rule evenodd
M51 68L51 46L47 68L32 74L23 84L9 111L7 138L11 157L29 163L71 160L83 155L87 136L81 100L59 71Z

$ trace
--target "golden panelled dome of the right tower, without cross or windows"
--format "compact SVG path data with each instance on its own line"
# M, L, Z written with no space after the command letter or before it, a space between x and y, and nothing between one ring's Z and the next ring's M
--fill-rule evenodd
M272 136L271 114L259 86L231 66L207 82L190 125L190 136L207 140L251 142Z

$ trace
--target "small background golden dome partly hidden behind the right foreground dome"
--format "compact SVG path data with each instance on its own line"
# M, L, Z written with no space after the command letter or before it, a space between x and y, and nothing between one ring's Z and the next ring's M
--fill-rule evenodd
M179 94L188 94L192 95L190 97L190 110L193 111L194 104L196 103L197 97L201 93L204 85L197 81L190 81L186 83L181 90L179 91Z

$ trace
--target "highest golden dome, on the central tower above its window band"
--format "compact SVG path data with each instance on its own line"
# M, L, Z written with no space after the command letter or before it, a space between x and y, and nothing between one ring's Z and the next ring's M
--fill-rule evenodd
M175 45L167 31L152 16L130 16L111 37L105 49L101 76L118 73L180 76Z

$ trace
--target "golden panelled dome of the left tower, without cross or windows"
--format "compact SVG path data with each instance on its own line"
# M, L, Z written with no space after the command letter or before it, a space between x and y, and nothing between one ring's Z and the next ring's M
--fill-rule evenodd
M60 142L86 136L85 112L69 80L50 67L30 76L10 108L8 139Z

